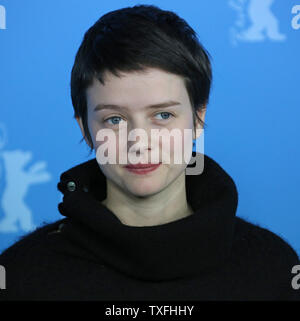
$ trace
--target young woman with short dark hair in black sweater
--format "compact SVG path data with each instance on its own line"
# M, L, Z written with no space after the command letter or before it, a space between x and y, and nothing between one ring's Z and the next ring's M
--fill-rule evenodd
M297 254L236 216L229 174L199 152L199 173L175 162L204 129L211 80L207 51L170 11L123 8L85 33L71 96L96 157L61 174L64 218L2 253L4 299L299 299L291 285ZM136 141L125 136L137 129L144 134ZM151 136L155 129L193 136L171 137L166 149ZM101 139L105 132L113 135ZM113 162L121 155L127 162ZM133 155L139 164L128 161Z

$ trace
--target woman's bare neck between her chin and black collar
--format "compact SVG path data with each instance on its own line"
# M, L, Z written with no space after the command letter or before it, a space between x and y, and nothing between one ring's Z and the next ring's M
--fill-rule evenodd
M148 197L127 195L107 179L107 198L102 204L129 226L154 226L193 214L186 199L185 171L163 191Z

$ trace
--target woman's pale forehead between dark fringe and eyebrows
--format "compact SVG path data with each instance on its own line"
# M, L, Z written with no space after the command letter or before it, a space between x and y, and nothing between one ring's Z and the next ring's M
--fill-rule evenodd
M134 109L167 100L185 103L188 99L183 78L160 69L123 72L121 77L106 72L104 76L104 85L94 79L87 89L87 103L91 108L101 103L126 105Z

